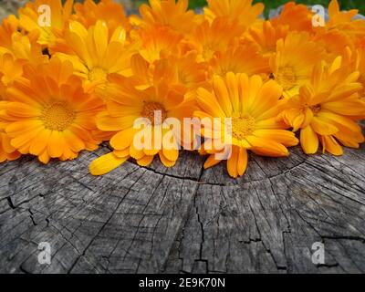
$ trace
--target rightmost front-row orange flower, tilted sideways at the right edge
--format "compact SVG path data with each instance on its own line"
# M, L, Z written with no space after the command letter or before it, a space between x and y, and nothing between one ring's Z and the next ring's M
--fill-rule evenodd
M359 148L364 141L355 117L365 114L365 103L359 99L359 72L342 65L342 57L326 65L320 62L313 70L310 84L298 96L287 101L283 119L294 131L300 129L300 143L307 154L323 151L343 153L343 145Z

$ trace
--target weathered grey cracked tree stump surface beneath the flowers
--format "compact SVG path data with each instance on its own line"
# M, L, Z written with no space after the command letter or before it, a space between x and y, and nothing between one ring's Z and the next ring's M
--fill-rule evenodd
M191 152L172 169L126 162L91 176L89 162L107 151L0 165L0 272L365 272L364 145L341 157L251 155L238 180L224 164L203 171ZM38 263L41 242L50 265Z

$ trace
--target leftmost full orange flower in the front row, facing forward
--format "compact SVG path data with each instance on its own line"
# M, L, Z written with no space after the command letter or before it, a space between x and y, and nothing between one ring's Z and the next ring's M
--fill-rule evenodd
M102 102L85 93L72 74L70 62L53 58L49 65L26 68L26 80L6 90L0 118L17 151L47 163L50 158L71 160L79 151L98 148L99 141L90 133L97 130Z

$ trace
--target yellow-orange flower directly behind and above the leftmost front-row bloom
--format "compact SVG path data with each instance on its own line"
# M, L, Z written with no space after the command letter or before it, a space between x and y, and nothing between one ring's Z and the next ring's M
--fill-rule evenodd
M130 57L136 51L135 45L126 41L123 27L110 31L105 22L98 21L87 29L72 21L65 31L65 40L69 52L58 52L55 56L72 62L75 74L84 80L88 92L95 92L105 99L104 89L108 85L109 74L130 76Z

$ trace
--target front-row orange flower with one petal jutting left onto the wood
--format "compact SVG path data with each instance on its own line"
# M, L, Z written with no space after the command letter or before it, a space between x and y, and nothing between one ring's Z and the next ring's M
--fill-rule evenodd
M90 164L93 175L110 172L130 157L141 166L147 166L159 155L162 163L172 167L178 157L182 132L176 127L170 128L170 118L180 116L189 118L192 109L184 106L186 89L172 84L167 74L155 76L153 85L147 89L138 89L130 78L119 75L110 76L110 99L107 110L98 116L99 130L116 131L110 139L114 151L101 156ZM154 120L158 112L160 119ZM138 119L148 119L142 129L135 127ZM139 144L141 135L150 145Z

